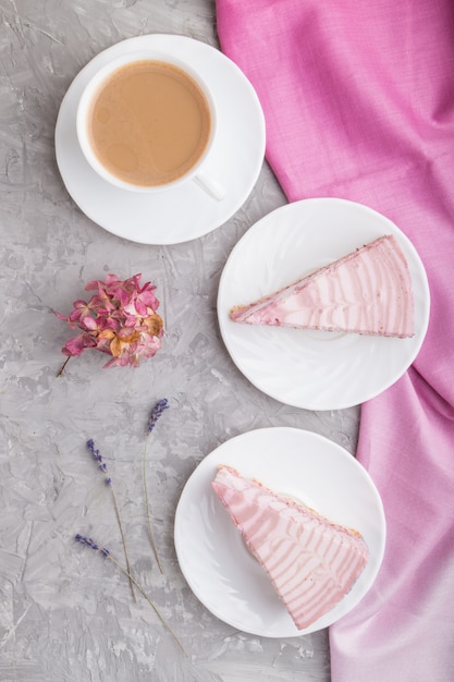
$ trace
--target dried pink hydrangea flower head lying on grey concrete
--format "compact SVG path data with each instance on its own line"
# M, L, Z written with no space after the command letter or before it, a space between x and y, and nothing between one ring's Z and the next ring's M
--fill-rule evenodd
M56 313L71 329L81 330L66 341L62 353L70 358L94 349L112 356L105 367L138 367L140 357L156 355L161 348L163 322L156 312L156 287L150 282L140 285L140 278L134 275L120 280L116 275L108 275L105 281L88 282L86 291L96 291L88 302L74 301L68 317Z

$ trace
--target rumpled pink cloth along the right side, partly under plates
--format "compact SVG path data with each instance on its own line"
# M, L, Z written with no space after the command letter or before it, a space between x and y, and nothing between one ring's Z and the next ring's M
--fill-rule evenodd
M378 579L330 629L334 682L454 680L454 2L217 0L289 200L366 204L413 241L431 318L405 376L361 407L383 499ZM347 491L346 491L347 494Z

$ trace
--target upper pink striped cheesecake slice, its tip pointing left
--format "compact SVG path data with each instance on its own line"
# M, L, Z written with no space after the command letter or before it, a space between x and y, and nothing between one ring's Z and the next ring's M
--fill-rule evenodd
M235 322L413 337L414 294L397 240L385 234L297 282L230 312Z

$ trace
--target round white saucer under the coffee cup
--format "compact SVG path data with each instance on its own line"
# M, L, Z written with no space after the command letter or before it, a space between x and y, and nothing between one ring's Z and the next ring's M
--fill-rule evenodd
M206 171L225 188L220 202L191 180L158 194L119 190L99 178L82 154L75 117L84 86L111 59L146 47L172 53L199 69L212 90L219 135ZM56 155L68 192L94 222L133 242L176 244L220 227L244 204L263 162L265 119L249 81L216 48L186 36L139 36L100 52L74 78L57 120Z

